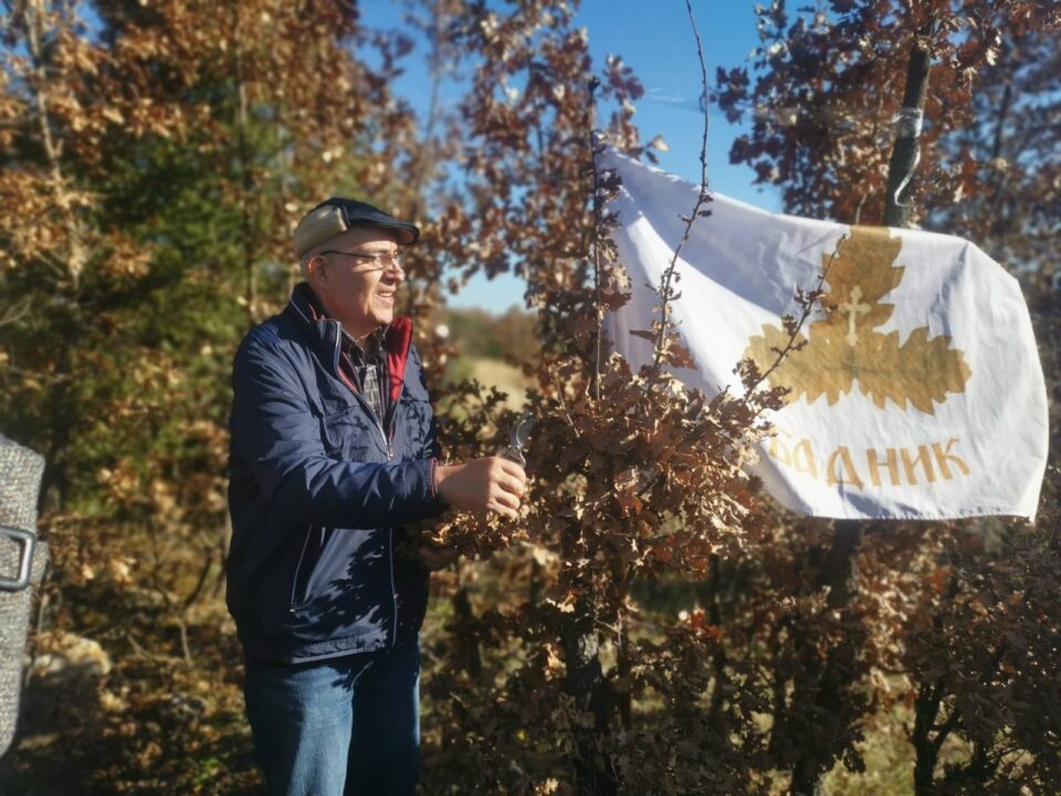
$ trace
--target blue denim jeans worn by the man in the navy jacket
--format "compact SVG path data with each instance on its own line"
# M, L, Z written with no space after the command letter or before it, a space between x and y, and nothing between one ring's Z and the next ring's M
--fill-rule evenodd
M246 661L246 715L269 796L412 796L420 642L314 663Z

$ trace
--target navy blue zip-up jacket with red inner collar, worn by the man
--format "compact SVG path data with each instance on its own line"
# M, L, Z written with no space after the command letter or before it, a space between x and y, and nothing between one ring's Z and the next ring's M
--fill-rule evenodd
M388 416L340 380L338 322L298 285L232 370L227 600L244 652L286 663L380 649L423 621L428 572L401 526L440 513L412 324L387 327Z

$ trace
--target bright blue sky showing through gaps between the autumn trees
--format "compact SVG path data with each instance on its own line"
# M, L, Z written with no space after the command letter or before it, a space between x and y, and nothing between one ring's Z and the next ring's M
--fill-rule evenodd
M502 3L498 3L502 6ZM744 64L758 45L755 3L747 0L693 0L707 64L708 86L716 66ZM372 0L361 7L363 21L369 27L397 27L402 9L397 2ZM638 102L635 122L643 140L660 134L670 151L660 155L660 167L700 181L700 145L703 121L697 109L701 93L696 44L689 24L684 0L584 0L576 23L589 32L593 63L603 64L608 54L621 55L644 84L647 94ZM413 107L427 107L427 70L418 69L418 55L409 63L397 86ZM449 86L451 96L458 86ZM729 165L729 147L740 128L729 125L718 113L711 114L707 139L707 174L713 190L740 199L765 210L777 211L776 191L753 187L747 166ZM454 306L477 306L492 312L523 304L524 284L512 276L493 281L473 280L459 295Z

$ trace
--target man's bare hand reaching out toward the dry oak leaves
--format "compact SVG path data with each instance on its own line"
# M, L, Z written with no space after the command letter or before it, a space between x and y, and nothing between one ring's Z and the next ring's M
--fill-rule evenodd
M438 479L439 494L451 506L497 512L508 520L516 519L519 500L527 491L523 468L503 457L440 464Z

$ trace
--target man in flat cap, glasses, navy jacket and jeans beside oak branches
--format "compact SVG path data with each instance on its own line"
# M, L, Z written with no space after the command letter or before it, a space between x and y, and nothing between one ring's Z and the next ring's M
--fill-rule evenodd
M411 795L428 572L401 526L447 505L515 517L526 476L440 464L399 249L419 230L333 198L294 235L305 282L233 364L228 605L270 794Z

